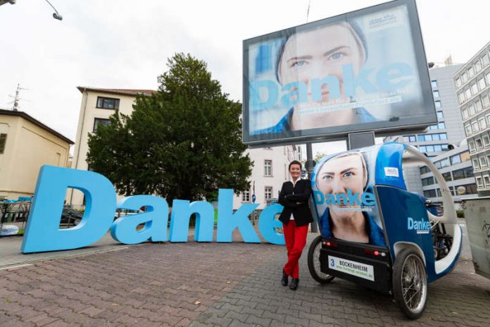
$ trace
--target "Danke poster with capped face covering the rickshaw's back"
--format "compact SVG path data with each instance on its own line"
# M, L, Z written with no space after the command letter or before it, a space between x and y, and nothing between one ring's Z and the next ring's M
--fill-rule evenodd
M403 175L394 176L394 171L401 171L401 161L390 162L390 169L377 178L377 161L387 153L384 148L396 152L403 144L332 154L316 164L311 183L322 237L387 247L374 185L377 179L400 185Z

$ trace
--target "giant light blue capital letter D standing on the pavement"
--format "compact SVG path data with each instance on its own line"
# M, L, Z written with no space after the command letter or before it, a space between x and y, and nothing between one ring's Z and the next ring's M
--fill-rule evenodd
M68 187L84 193L85 212L77 226L59 229ZM114 212L114 187L103 175L92 171L42 166L20 250L30 253L91 245L107 233Z

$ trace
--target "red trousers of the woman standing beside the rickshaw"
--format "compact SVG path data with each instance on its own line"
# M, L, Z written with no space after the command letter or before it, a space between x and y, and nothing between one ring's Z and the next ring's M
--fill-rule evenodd
M306 245L308 225L297 227L294 220L290 220L287 225L282 224L282 230L287 248L287 263L284 265L284 271L292 278L299 278L298 261Z

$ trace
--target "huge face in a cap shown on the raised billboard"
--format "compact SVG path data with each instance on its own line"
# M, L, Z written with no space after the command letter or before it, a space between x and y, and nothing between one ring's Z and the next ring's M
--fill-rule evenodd
M309 108L315 102L310 87L310 81L314 78L322 80L328 75L337 77L341 98L344 98L342 66L351 64L354 75L357 75L364 60L363 56L363 49L348 25L330 25L318 30L299 32L291 36L284 45L279 63L279 82L282 85L296 81L306 83L308 102L296 104L300 108ZM321 97L322 101L329 100L327 84L322 85Z

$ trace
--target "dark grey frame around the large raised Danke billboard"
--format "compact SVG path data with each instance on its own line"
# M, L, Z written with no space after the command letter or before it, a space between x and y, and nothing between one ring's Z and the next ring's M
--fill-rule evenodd
M351 20L353 18L358 18L359 16L367 16L372 13L377 13L379 11L395 8L398 6L405 5L408 11L408 22L410 24L410 32L412 36L413 49L415 52L415 69L420 77L420 89L421 89L421 99L424 106L432 104L431 113L420 117L405 118L402 124L394 124L390 121L376 121L376 122L365 122L358 123L350 128L348 131L345 130L345 125L333 126L328 128L315 128L307 130L308 134L313 135L303 135L304 130L291 131L291 136L288 137L277 137L274 139L263 140L263 135L251 135L249 130L250 122L250 109L249 109L249 47L253 44L260 42L265 42L270 39L277 39L282 37L282 35L288 34L291 31L296 30L298 27L303 27L308 25L308 27L324 26L327 24L337 23L341 21ZM297 25L294 27L289 27L284 30L278 30L276 32L271 32L266 35L260 35L258 37L253 37L250 39L245 39L243 41L243 105L242 105L242 140L244 144L249 145L249 147L274 147L284 144L298 144L298 143L315 143L315 142L329 142L337 140L348 140L348 134L358 133L358 132L370 132L375 131L376 137L383 137L389 135L400 135L404 132L421 132L425 130L429 125L437 123L436 109L434 105L434 98L432 97L432 87L430 85L429 70L427 67L427 58L425 56L425 47L422 39L422 31L420 30L420 20L418 18L417 6L415 0L394 0L389 1L384 4L378 4L375 6L370 6L367 8L358 9L356 11L351 11L348 13L343 13L337 16L332 16L329 18L324 18L322 20L316 20L311 23L306 23L303 25ZM393 122L396 122L394 120ZM391 123L391 124L390 124Z

